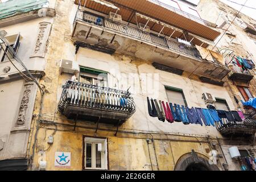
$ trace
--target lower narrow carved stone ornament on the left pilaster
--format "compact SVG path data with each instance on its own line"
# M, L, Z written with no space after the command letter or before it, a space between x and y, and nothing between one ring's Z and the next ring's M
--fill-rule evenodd
M25 85L23 92L23 98L19 106L19 115L17 119L18 125L23 125L26 121L26 111L28 107L28 102L30 101L31 85Z

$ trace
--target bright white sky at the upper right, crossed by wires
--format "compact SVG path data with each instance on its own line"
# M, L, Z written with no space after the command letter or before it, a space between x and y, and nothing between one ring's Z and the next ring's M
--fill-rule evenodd
M197 3L200 2L200 0L188 0L188 1L190 1L190 2L192 2L194 4L196 4L196 5L197 5ZM243 3L245 3L246 0L230 0L230 1L233 1L233 2L236 2L236 3L239 3L241 5L237 5L236 3L232 3L232 2L230 2L228 0L219 0L219 1L224 2L227 5L229 5L230 7L233 7L234 9L239 11L241 9L241 7L242 7L241 5L243 5ZM243 14L245 14L247 16L250 16L251 18L256 20L256 1L255 0L247 0L245 5L249 6L249 7L254 7L255 10L247 8L247 7L243 7L241 12Z

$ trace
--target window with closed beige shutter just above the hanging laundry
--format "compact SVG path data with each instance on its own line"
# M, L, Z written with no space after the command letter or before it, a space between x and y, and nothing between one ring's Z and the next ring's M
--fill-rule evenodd
M187 106L183 90L177 89L171 86L166 86L166 94L168 101L172 104L179 104L181 106Z

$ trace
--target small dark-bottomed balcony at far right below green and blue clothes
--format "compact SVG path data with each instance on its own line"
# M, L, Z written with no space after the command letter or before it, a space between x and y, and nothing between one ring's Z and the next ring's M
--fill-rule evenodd
M242 68L237 65L229 65L229 69L231 70L229 73L229 78L232 81L237 82L245 82L249 84L249 82L253 79L253 75L251 75L249 70L242 70Z

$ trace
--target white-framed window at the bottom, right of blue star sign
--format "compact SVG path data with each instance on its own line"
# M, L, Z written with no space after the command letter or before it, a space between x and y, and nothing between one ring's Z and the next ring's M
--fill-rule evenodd
M108 169L106 138L84 138L84 169Z

